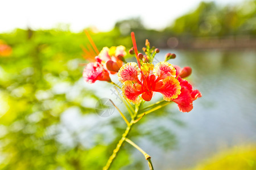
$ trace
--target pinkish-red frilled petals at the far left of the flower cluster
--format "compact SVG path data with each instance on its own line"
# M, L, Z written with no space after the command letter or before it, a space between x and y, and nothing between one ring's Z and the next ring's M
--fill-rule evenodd
M95 83L96 80L111 82L109 72L104 69L99 61L100 60L97 59L96 62L90 62L88 65L86 65L82 73L85 82Z

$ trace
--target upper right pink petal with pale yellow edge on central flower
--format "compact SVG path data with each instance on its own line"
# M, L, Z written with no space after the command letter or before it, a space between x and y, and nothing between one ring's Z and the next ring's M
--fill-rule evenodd
M155 68L153 73L158 76L158 79L165 79L167 76L175 76L176 70L174 66L172 66L170 63L163 61L159 62Z

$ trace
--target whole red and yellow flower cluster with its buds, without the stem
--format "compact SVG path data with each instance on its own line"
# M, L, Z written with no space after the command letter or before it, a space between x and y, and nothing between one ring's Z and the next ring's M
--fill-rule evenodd
M156 65L152 63L159 49L150 47L146 40L144 54L138 53L134 33L131 33L133 48L130 54L135 53L137 63L125 62L124 46L104 47L95 62L88 63L83 72L84 80L94 83L96 80L112 82L109 74L118 73L118 79L123 84L123 97L128 101L138 104L142 100L150 101L155 92L163 95L166 101L177 103L181 112L189 112L193 109L193 101L201 97L199 90L193 90L192 85L185 80L192 73L191 67L174 66L167 61L175 58L175 54L168 53L166 60Z

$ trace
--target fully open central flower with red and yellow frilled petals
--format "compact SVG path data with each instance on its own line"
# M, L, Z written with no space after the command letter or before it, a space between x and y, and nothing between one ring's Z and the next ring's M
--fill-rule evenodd
M160 62L155 67L151 63L143 63L139 69L137 63L126 63L118 71L119 81L123 83L123 96L133 103L142 99L150 101L153 92L163 94L163 99L171 101L180 94L180 83L175 79L176 71L168 62Z

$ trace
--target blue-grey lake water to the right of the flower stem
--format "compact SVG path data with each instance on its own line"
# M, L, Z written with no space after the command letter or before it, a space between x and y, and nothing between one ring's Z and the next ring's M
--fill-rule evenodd
M167 52L162 50L161 54ZM191 112L179 114L185 127L172 129L177 137L174 150L147 146L154 155L155 169L193 167L218 151L255 143L255 52L175 53L177 58L170 62L192 67L189 80L203 97L194 102ZM170 123L164 119L158 121L158 124Z

